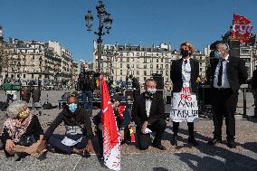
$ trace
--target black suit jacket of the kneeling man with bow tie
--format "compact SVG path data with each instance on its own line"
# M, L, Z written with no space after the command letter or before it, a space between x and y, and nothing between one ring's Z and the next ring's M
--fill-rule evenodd
M138 127L141 127L145 121L148 120L148 124L156 122L158 119L166 119L164 113L164 101L163 98L155 93L151 103L149 117L146 111L146 96L145 92L138 95L133 102L133 108L131 111L132 119L135 120Z

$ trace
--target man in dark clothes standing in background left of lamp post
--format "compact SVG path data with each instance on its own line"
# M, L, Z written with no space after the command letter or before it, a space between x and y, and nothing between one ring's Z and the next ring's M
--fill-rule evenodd
M89 64L84 63L78 79L78 90L82 93L84 108L92 115L93 90L95 87L95 72L90 71Z

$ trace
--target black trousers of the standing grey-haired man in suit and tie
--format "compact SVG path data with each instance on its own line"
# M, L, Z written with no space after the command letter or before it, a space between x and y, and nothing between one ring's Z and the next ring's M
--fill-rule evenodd
M214 138L222 138L223 119L225 118L227 140L233 140L235 135L234 113L238 100L238 92L232 89L212 91L214 109Z

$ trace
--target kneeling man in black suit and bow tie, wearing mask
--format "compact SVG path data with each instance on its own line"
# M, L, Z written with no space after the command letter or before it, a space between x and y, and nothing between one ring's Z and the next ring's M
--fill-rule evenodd
M161 145L161 138L167 126L164 113L164 101L156 93L157 82L153 79L145 81L145 92L135 98L132 109L132 119L137 124L138 147L145 150L151 145L148 130L156 131L153 147L166 150Z

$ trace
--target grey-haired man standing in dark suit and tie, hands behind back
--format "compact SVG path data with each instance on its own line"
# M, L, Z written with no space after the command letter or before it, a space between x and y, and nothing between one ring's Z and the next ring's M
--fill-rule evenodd
M234 113L238 100L240 85L247 80L247 71L241 58L229 55L229 46L219 43L215 58L211 61L212 100L214 109L214 138L208 144L222 142L223 118L225 118L227 146L236 147L234 142Z

